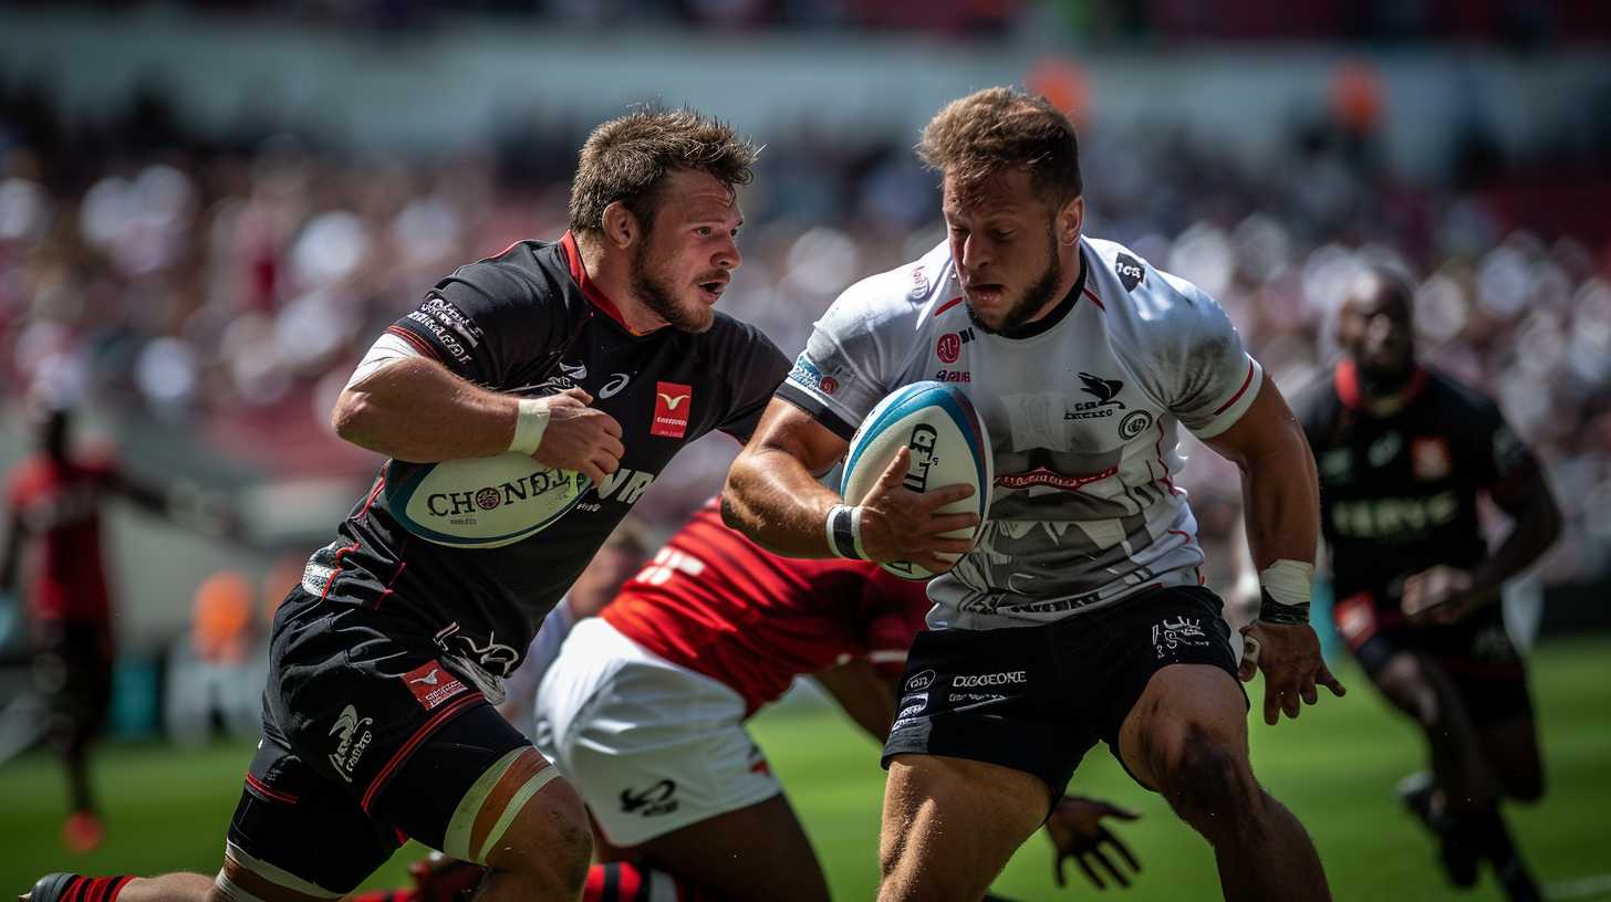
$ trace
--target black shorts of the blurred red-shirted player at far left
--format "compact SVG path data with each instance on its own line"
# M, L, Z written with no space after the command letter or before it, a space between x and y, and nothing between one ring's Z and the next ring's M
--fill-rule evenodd
M111 709L111 623L39 620L34 625L34 685L50 701L56 743L82 744Z

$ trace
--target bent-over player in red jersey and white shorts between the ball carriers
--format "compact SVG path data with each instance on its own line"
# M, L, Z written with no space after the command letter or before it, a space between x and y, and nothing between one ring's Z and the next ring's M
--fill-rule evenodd
M867 561L778 557L725 527L715 501L698 511L599 617L575 623L541 680L536 744L601 834L585 902L826 900L822 865L744 722L814 676L883 743L928 609L923 583ZM556 607L543 633L567 617ZM1097 868L1129 884L1123 865L1139 865L1108 817L1136 815L1058 802L1047 821L1058 884L1066 859L1099 888ZM462 883L438 862L420 896L445 902L441 888Z

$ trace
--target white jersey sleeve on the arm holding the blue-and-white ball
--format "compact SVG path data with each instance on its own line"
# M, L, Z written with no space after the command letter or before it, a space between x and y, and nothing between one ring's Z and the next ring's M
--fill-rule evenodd
M888 280L889 274L881 274L846 288L812 327L806 350L778 388L778 398L846 441L884 399L896 375L886 333L899 329L899 311L883 303L891 292Z

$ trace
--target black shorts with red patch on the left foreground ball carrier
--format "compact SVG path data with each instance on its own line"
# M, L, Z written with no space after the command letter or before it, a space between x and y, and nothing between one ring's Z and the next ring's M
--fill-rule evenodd
M530 741L411 622L293 591L274 619L263 743L229 828L255 862L346 894L406 839L433 847Z

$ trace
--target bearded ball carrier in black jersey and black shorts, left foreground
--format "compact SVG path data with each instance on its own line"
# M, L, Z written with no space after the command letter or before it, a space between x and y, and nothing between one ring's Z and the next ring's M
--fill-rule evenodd
M580 896L582 799L491 702L656 474L707 432L748 438L788 370L712 309L754 156L686 110L604 122L562 240L461 267L388 329L337 401L343 438L414 462L524 451L588 494L532 538L449 548L403 528L382 469L275 615L217 876L47 875L32 902L338 899L406 838L487 865L477 899Z

